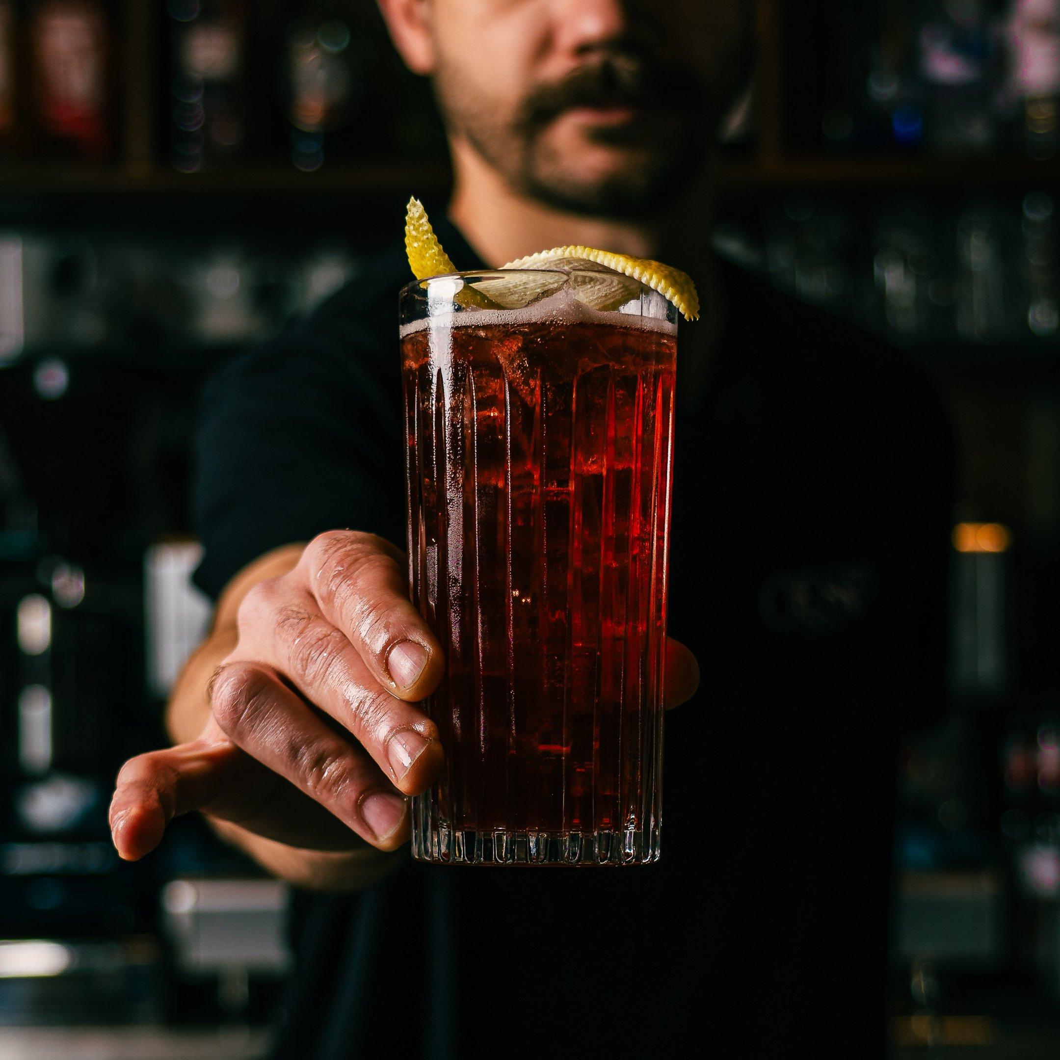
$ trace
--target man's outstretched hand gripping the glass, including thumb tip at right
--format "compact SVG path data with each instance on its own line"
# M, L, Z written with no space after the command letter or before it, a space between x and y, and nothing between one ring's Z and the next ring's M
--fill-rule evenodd
M110 827L122 858L142 858L192 811L304 850L391 851L407 840L407 796L442 764L418 704L444 660L404 569L388 542L336 531L247 593L235 650L207 691L206 729L118 775ZM694 656L670 640L667 707L697 684Z

